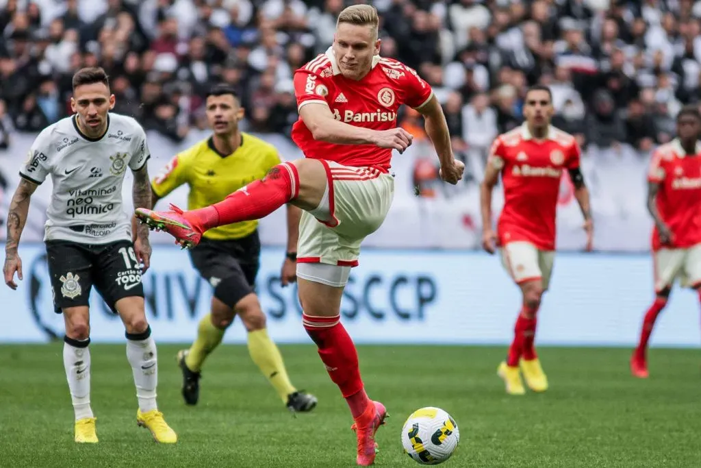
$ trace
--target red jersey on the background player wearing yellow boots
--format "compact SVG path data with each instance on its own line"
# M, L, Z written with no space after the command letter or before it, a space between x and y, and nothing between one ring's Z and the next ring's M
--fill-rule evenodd
M489 163L501 170L504 207L497 224L499 244L527 241L541 250L555 248L557 196L565 169L579 167L580 149L569 133L550 126L534 140L524 123L499 135Z

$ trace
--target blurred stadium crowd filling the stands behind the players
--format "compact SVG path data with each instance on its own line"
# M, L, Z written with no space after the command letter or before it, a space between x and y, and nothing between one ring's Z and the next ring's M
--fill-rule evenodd
M414 67L457 149L517 126L526 87L552 88L554 124L582 145L669 140L701 97L701 1L379 0L381 54ZM182 140L205 89L235 86L245 129L289 133L292 73L325 51L343 0L0 0L0 148L69 114L71 76L100 65L115 112ZM415 116L402 116L412 126ZM420 131L420 129L419 129Z

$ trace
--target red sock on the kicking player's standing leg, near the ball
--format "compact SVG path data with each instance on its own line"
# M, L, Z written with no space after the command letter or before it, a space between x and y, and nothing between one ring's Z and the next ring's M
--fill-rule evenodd
M358 352L343 328L340 317L302 315L304 329L316 343L331 380L339 386L354 418L360 417L371 403L365 394L358 368Z

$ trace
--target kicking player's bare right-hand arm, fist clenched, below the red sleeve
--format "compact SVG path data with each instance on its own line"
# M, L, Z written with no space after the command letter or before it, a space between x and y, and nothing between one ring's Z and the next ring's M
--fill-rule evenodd
M465 165L457 161L453 156L453 145L450 141L448 123L443 114L443 108L438 99L433 95L426 104L416 109L423 115L426 135L433 143L438 159L440 160L440 175L443 180L451 184L457 184L463 178Z

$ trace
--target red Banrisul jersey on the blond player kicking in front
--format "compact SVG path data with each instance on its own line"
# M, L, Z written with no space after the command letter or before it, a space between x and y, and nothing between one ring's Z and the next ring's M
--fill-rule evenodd
M329 106L338 121L382 131L397 126L400 105L421 107L433 91L414 69L379 55L374 56L372 69L363 79L346 79L329 48L294 72L294 94L297 109L320 102ZM375 166L385 172L390 168L392 149L314 140L301 117L292 126L292 140L308 158L344 166Z

